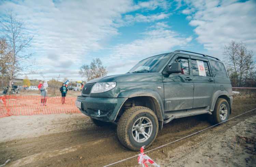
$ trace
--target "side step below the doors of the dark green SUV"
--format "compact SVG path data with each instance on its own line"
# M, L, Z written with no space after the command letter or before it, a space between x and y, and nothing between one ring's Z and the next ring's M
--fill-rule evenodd
M175 118L183 118L183 117L189 117L189 116L196 116L204 113L209 113L212 115L210 111L207 110L198 110L198 111L170 111L170 112L165 112L165 121L163 123L168 123L172 121Z

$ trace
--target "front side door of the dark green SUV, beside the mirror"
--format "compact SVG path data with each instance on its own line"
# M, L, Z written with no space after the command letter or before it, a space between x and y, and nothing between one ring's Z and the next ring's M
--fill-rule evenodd
M169 62L181 63L181 72L163 74L165 111L182 110L193 107L194 83L189 72L189 56L175 55Z

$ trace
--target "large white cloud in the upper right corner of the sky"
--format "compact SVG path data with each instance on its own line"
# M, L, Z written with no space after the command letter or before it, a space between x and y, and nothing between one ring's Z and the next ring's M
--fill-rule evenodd
M255 1L191 1L195 14L188 17L195 26L197 40L209 51L222 52L231 40L243 41L256 52ZM191 7L190 6L190 7ZM185 11L186 13L186 11Z

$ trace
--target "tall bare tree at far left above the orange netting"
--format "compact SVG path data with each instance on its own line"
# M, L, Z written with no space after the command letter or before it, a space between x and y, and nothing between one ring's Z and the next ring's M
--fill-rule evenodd
M29 36L26 31L25 23L22 20L17 20L12 13L12 10L6 12L6 15L0 21L1 36L6 40L6 44L10 49L10 54L6 55L8 61L3 62L4 70L1 69L1 74L9 80L9 90L12 88L12 80L18 75L28 72L34 64L32 54L27 53L28 47L31 45L33 36Z

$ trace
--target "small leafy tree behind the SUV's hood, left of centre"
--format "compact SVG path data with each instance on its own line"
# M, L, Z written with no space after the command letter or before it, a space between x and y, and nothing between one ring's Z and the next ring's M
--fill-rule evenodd
M106 67L102 65L102 62L99 58L93 59L90 66L89 65L82 65L80 67L79 74L82 77L86 77L87 81L99 78L107 75Z

